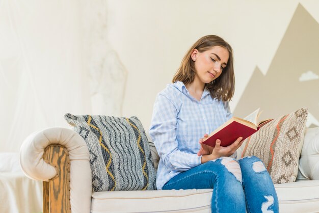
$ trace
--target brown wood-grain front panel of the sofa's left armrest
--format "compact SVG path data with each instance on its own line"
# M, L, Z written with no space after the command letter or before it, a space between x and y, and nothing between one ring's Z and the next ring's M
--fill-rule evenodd
M51 144L44 149L43 159L54 166L57 175L43 181L43 213L70 213L70 157L66 147Z

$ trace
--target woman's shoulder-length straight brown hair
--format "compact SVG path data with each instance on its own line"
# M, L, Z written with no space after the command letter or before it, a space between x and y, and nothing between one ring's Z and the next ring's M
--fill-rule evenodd
M183 60L180 63L180 67L175 73L172 82L183 82L185 85L190 84L195 78L195 62L191 59L191 54L194 49L199 52L206 51L213 46L222 46L229 52L229 59L227 66L223 69L222 74L214 81L206 84L205 87L209 90L212 98L218 100L229 101L234 95L235 91L235 75L233 66L233 52L231 46L221 37L215 35L208 35L200 38L193 44L193 46L187 51Z

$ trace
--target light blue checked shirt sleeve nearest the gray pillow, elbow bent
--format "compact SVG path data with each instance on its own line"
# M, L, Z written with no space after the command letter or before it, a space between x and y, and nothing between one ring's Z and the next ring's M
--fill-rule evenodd
M154 103L149 134L164 165L171 170L186 171L200 165L201 156L178 149L177 113L172 101L159 94Z

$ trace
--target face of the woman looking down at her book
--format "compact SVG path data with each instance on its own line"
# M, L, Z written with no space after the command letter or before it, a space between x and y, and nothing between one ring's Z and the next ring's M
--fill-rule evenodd
M213 46L203 52L194 49L191 57L195 62L196 76L208 84L222 74L227 66L229 52L225 47Z

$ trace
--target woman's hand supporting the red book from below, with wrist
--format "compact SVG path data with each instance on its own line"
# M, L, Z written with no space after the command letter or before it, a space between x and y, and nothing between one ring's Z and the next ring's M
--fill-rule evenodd
M201 158L201 163L205 163L208 161L211 161L213 159L217 159L219 157L223 156L230 156L232 155L242 144L243 144L243 138L239 137L234 143L232 143L229 146L223 147L221 146L221 140L216 140L216 145L214 149L212 150L211 154L203 155Z

